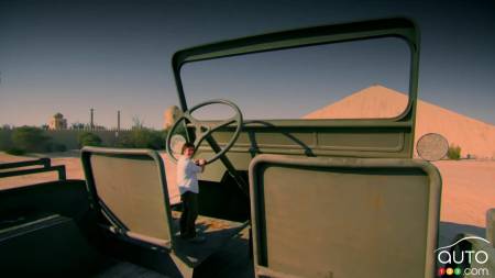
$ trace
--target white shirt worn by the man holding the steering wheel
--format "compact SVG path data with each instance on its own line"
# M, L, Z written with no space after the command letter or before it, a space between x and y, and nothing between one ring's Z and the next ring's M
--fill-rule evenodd
M201 167L197 166L193 159L180 156L177 163L177 186L180 194L187 191L199 193L197 174L201 170Z

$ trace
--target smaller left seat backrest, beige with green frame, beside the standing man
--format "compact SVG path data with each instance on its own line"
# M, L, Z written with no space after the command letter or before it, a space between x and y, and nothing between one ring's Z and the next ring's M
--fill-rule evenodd
M164 165L152 149L85 147L86 182L111 230L170 247L173 225Z

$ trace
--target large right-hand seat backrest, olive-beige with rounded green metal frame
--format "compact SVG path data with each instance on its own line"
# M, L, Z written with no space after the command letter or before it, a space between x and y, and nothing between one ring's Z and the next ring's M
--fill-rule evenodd
M250 189L256 277L435 277L429 163L261 155Z

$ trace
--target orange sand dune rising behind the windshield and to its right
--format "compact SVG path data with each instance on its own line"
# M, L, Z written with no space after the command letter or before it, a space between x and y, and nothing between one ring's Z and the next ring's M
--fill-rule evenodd
M374 85L340 101L318 109L305 119L393 118L407 105L405 93ZM495 159L495 126L418 101L416 141L427 133L443 135L449 144L461 146L461 155Z

